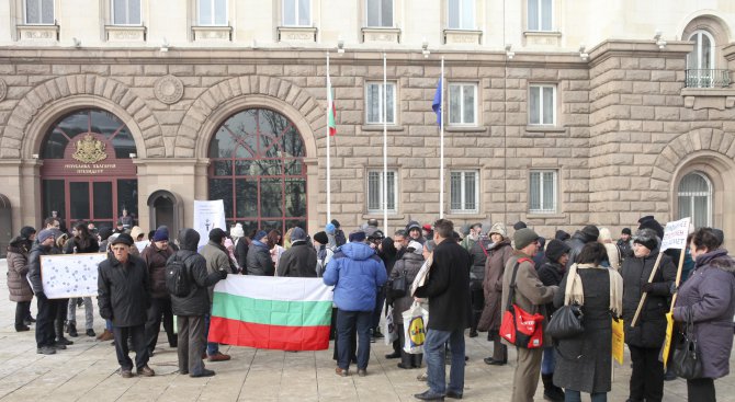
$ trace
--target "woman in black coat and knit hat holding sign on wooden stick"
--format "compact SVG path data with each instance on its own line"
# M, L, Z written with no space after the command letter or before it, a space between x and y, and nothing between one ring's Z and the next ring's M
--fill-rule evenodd
M631 352L631 401L664 399L664 364L658 360L666 336L666 312L677 268L666 253L659 253L658 234L654 229L641 229L633 238L634 256L623 261L623 322L625 343ZM654 265L658 269L653 275ZM643 294L647 294L643 310L633 324L633 317Z

